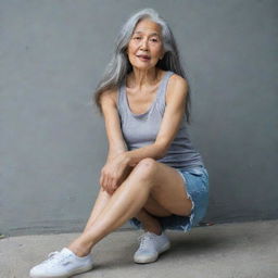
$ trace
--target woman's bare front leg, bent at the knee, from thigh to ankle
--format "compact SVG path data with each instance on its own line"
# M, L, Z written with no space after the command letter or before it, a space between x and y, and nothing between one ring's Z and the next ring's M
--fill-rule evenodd
M144 159L113 193L90 229L68 248L79 256L87 255L98 241L136 217L151 193L169 213L188 215L191 212L192 203L187 199L180 175L165 164Z

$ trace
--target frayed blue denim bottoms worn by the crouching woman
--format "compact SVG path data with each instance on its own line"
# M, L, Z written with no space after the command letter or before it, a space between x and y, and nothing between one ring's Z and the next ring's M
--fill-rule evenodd
M185 180L187 198L193 204L191 213L188 216L173 214L166 217L155 216L155 218L160 222L163 230L182 230L187 232L192 227L199 226L206 214L208 206L208 173L203 166L195 166L186 170L175 169ZM141 222L135 217L129 219L129 224L137 229L143 228Z

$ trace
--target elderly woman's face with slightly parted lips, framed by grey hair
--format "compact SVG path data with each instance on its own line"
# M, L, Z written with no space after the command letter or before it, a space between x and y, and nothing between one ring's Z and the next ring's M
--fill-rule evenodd
M154 67L163 54L161 26L148 18L140 21L127 46L130 64L148 70Z

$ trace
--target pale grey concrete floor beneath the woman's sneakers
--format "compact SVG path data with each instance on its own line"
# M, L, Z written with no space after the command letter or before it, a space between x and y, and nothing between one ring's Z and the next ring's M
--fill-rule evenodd
M167 230L172 249L152 264L132 262L141 230L109 235L92 250L96 267L84 278L277 278L278 220L217 224L191 231ZM47 254L79 233L10 237L0 240L0 277L25 278Z

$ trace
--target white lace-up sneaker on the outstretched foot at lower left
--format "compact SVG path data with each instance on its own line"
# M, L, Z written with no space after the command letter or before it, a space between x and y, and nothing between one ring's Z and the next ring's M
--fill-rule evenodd
M88 271L91 268L91 254L80 257L70 249L63 248L60 252L49 253L47 260L30 269L29 276L31 278L65 278Z

